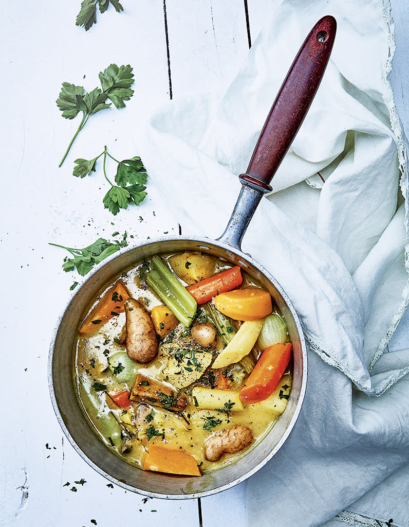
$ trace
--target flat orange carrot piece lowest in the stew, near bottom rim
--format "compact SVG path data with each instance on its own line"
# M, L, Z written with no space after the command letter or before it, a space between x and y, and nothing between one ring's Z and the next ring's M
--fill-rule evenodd
M144 470L201 476L195 458L183 450L171 450L162 446L150 445L145 454L142 467Z

